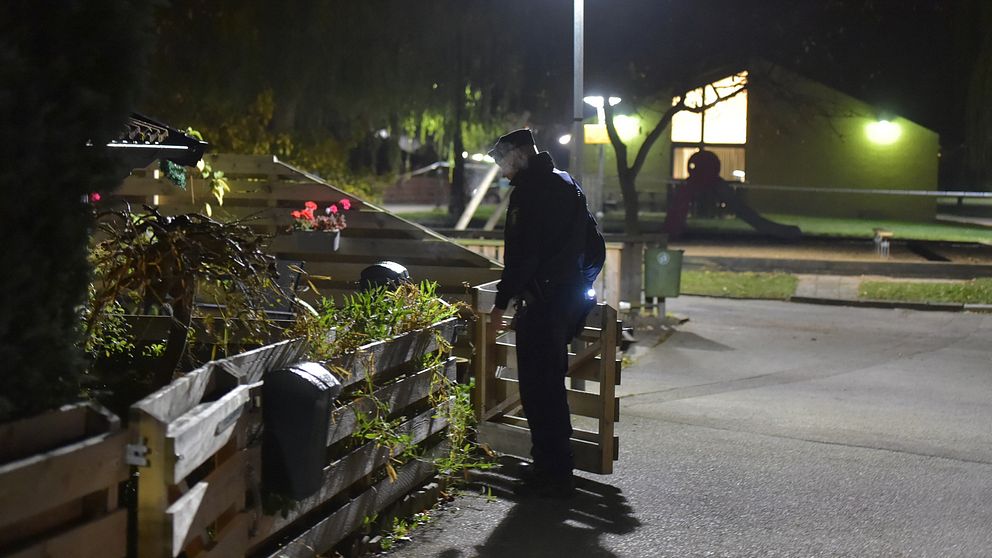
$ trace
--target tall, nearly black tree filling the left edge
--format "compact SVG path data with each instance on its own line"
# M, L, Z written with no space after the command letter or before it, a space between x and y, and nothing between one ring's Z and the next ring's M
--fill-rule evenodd
M114 0L0 8L0 421L79 394L85 199L120 182L98 146L133 110L149 16L146 3Z

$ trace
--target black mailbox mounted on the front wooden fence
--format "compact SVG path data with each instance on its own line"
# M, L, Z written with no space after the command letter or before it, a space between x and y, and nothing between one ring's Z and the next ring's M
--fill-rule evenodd
M341 383L316 362L265 375L262 384L262 485L302 500L320 488L327 429Z

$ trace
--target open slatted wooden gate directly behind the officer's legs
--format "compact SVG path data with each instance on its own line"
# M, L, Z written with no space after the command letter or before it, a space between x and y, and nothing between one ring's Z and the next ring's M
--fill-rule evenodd
M491 344L490 311L496 299L496 282L475 287L475 376L473 405L479 423L479 441L510 455L530 455L530 430L520 405L513 332ZM575 467L608 475L618 458L619 442L614 423L620 417L616 386L621 361L617 354L620 322L617 311L600 303L590 312L583 332L572 341L568 357L568 406L572 414L572 452Z

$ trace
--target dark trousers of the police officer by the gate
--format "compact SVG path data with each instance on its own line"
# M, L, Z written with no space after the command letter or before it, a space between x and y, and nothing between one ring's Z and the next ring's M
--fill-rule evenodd
M565 396L568 343L582 311L573 289L549 288L517 318L520 399L531 431L531 457L550 475L572 472L572 422Z

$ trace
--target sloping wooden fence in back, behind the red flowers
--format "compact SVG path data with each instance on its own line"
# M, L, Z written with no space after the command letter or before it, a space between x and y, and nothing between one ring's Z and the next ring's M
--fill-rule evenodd
M218 205L202 179L192 180L186 190L161 178L154 168L136 170L112 196L107 206L127 202L158 206L166 215L204 211L212 207L214 218L240 220L272 235L267 252L286 260L305 262L304 269L317 279L321 294L338 297L352 292L361 271L381 260L404 265L415 281L430 279L439 292L468 299L470 286L499 277L500 265L462 247L430 229L397 217L382 208L335 188L319 177L280 162L274 156L210 155L214 170L224 172L231 191ZM293 232L290 213L313 201L323 210L330 203L347 199L344 212L348 226L334 248L333 234ZM311 293L311 297L316 296Z

